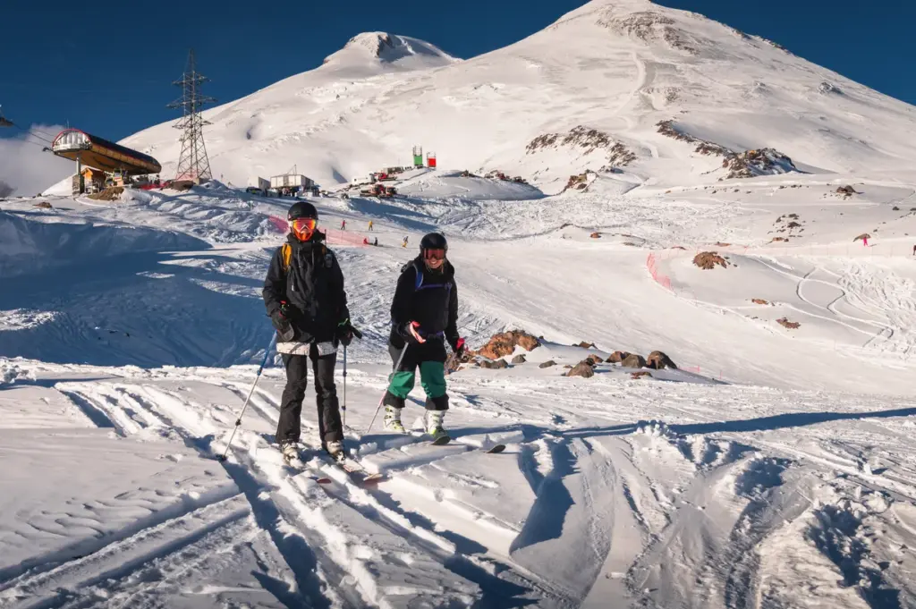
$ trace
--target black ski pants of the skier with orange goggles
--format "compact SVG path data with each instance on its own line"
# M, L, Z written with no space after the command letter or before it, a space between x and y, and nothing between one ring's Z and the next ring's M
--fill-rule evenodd
M301 434L300 417L305 388L308 386L309 359L315 375L315 404L318 407L318 432L322 445L344 440L337 387L334 386L334 365L337 353L318 354L318 346L311 345L309 356L283 355L287 369L287 385L283 389L280 419L277 423L277 442L298 442Z

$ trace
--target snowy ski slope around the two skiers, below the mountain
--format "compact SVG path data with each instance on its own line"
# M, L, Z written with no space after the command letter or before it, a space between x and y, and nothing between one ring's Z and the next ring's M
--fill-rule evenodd
M214 461L271 333L258 292L289 201L5 202L0 604L910 606L916 179L846 179L545 197L442 170L313 200L365 332L346 441L374 490L322 459L308 407L310 462L279 462L276 359ZM449 377L445 448L366 430L398 270L433 228L469 343L545 340ZM726 266L693 266L707 251ZM616 349L681 369L565 376Z

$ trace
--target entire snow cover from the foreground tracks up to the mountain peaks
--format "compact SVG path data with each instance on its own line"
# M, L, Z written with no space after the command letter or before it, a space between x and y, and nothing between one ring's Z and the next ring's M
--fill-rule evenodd
M472 60L360 35L208 119L224 180L0 201L0 607L916 606L910 106L624 0ZM344 187L418 142L446 168ZM178 156L169 125L127 143ZM292 201L229 182L294 163L334 187L345 442L377 486L322 456L311 388L304 467L272 445ZM541 337L448 376L444 447L419 387L414 433L367 429L432 230L473 348Z

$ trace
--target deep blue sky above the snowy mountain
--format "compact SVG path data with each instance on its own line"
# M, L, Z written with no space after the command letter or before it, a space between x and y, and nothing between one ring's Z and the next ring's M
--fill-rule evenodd
M318 66L362 31L429 40L458 57L497 49L551 24L582 0L232 3L164 0L99 5L7 0L0 14L0 104L19 124L65 125L120 139L176 118L165 105L193 46L206 92L228 102ZM661 0L773 39L797 55L916 103L909 0ZM191 8L193 7L193 12ZM97 27L88 27L92 20ZM13 135L4 130L2 136ZM0 159L2 162L2 159Z

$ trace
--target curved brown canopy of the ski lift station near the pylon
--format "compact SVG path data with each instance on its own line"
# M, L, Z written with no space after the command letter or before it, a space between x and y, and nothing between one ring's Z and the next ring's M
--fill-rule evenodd
M101 137L79 129L64 129L51 144L58 157L80 160L83 165L123 176L141 176L159 173L158 160L128 147L114 144Z

